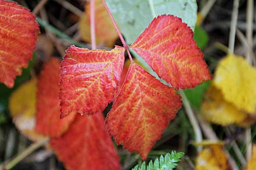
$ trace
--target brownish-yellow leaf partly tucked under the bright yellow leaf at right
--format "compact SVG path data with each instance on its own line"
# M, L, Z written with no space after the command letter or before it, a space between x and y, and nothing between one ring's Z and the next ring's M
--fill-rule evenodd
M207 121L219 125L239 124L247 119L247 114L225 101L221 91L213 84L205 93L201 114Z

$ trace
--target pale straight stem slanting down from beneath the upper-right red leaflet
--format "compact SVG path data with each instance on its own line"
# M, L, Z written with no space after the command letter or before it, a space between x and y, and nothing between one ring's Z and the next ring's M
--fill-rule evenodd
M183 101L187 116L189 117L189 121L195 132L195 141L197 143L202 142L203 140L202 132L198 124L198 120L196 119L195 114L193 113L192 108L189 104L189 100L187 99L185 93L182 90L180 90L180 95L182 97L182 101ZM198 152L200 152L202 150L202 147L197 147L197 149L198 149Z

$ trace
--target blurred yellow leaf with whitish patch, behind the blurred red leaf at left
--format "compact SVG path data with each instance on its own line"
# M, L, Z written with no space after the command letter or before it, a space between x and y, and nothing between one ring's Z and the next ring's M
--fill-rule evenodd
M17 88L9 99L12 121L18 130L32 141L44 137L35 132L36 79L31 79Z

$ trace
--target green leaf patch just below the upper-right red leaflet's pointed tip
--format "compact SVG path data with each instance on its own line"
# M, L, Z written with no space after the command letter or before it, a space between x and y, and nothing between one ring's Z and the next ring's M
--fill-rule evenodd
M188 88L183 90L186 97L189 99L190 104L200 110L201 102L203 100L204 92L210 85L210 81L203 82L201 85L195 86L195 88Z

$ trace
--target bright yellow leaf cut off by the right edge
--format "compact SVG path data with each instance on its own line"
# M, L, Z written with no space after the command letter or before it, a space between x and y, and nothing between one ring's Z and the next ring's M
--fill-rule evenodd
M243 57L228 54L221 59L213 83L225 100L243 111L256 113L256 68Z

